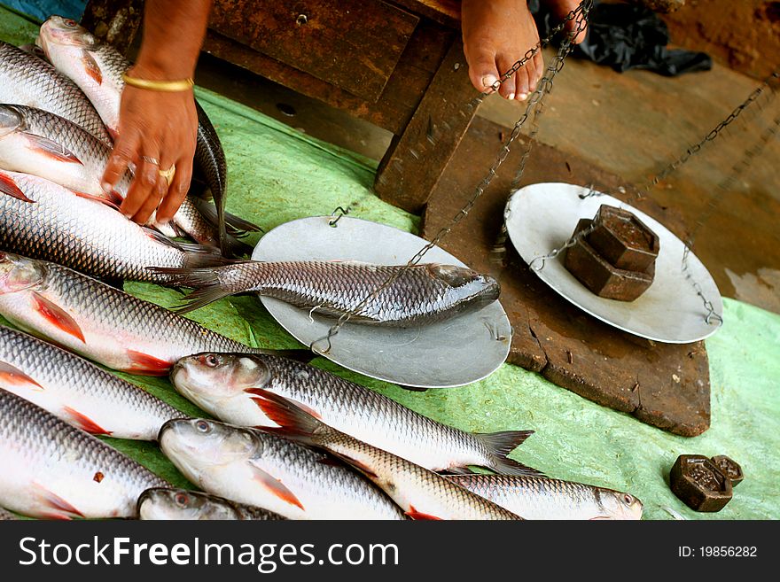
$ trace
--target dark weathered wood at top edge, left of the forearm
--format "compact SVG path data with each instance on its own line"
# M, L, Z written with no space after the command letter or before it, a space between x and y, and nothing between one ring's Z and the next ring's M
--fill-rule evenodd
M84 8L82 27L127 54L143 14L144 0L90 0Z

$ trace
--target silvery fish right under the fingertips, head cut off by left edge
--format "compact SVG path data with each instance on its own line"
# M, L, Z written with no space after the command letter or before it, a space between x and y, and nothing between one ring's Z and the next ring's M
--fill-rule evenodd
M0 170L0 250L111 280L166 283L151 266L224 263L211 247L171 241L93 199L34 175Z

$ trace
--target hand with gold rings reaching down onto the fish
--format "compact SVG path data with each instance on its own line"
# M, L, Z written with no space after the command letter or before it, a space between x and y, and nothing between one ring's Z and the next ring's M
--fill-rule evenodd
M163 80L153 70L132 67L129 76ZM105 167L103 189L113 190L129 165L135 176L121 213L145 224L157 210L165 223L181 206L192 177L192 159L198 134L198 114L192 89L165 92L126 86L122 91L118 136ZM175 166L170 184L160 171Z

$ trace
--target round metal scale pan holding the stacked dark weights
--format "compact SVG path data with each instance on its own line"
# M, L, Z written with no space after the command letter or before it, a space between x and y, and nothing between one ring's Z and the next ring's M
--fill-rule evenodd
M636 214L660 239L655 280L641 297L630 302L598 297L566 270L563 253L556 259L545 260L543 268L532 270L577 307L636 336L669 344L688 344L713 335L718 330L715 318L706 322L703 300L681 268L683 241L659 221L617 198L606 194L580 198L589 191L573 184L550 182L532 184L512 194L504 220L511 242L523 260L531 264L535 258L565 244L577 222L581 218L593 218L599 206L625 208ZM688 272L712 302L714 313L722 317L723 303L718 287L692 252L688 257Z

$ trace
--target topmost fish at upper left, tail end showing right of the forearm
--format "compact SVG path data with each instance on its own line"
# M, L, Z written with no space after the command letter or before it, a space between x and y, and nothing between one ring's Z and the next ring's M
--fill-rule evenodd
M58 71L70 77L90 98L109 131L116 136L121 92L125 86L122 74L129 69L129 60L74 20L61 16L51 16L43 23L37 43ZM195 106L199 123L194 163L214 198L220 248L227 253L231 248L225 225L227 162L214 126L197 101Z

